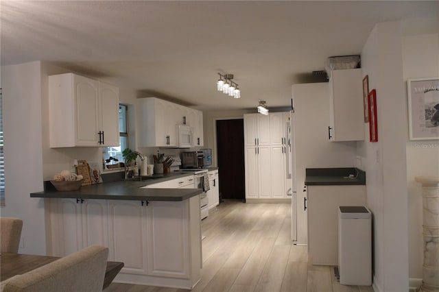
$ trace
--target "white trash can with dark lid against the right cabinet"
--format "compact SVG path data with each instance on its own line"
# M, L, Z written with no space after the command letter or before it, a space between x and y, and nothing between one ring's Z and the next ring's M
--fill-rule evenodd
M364 206L338 208L340 284L372 285L372 213Z

